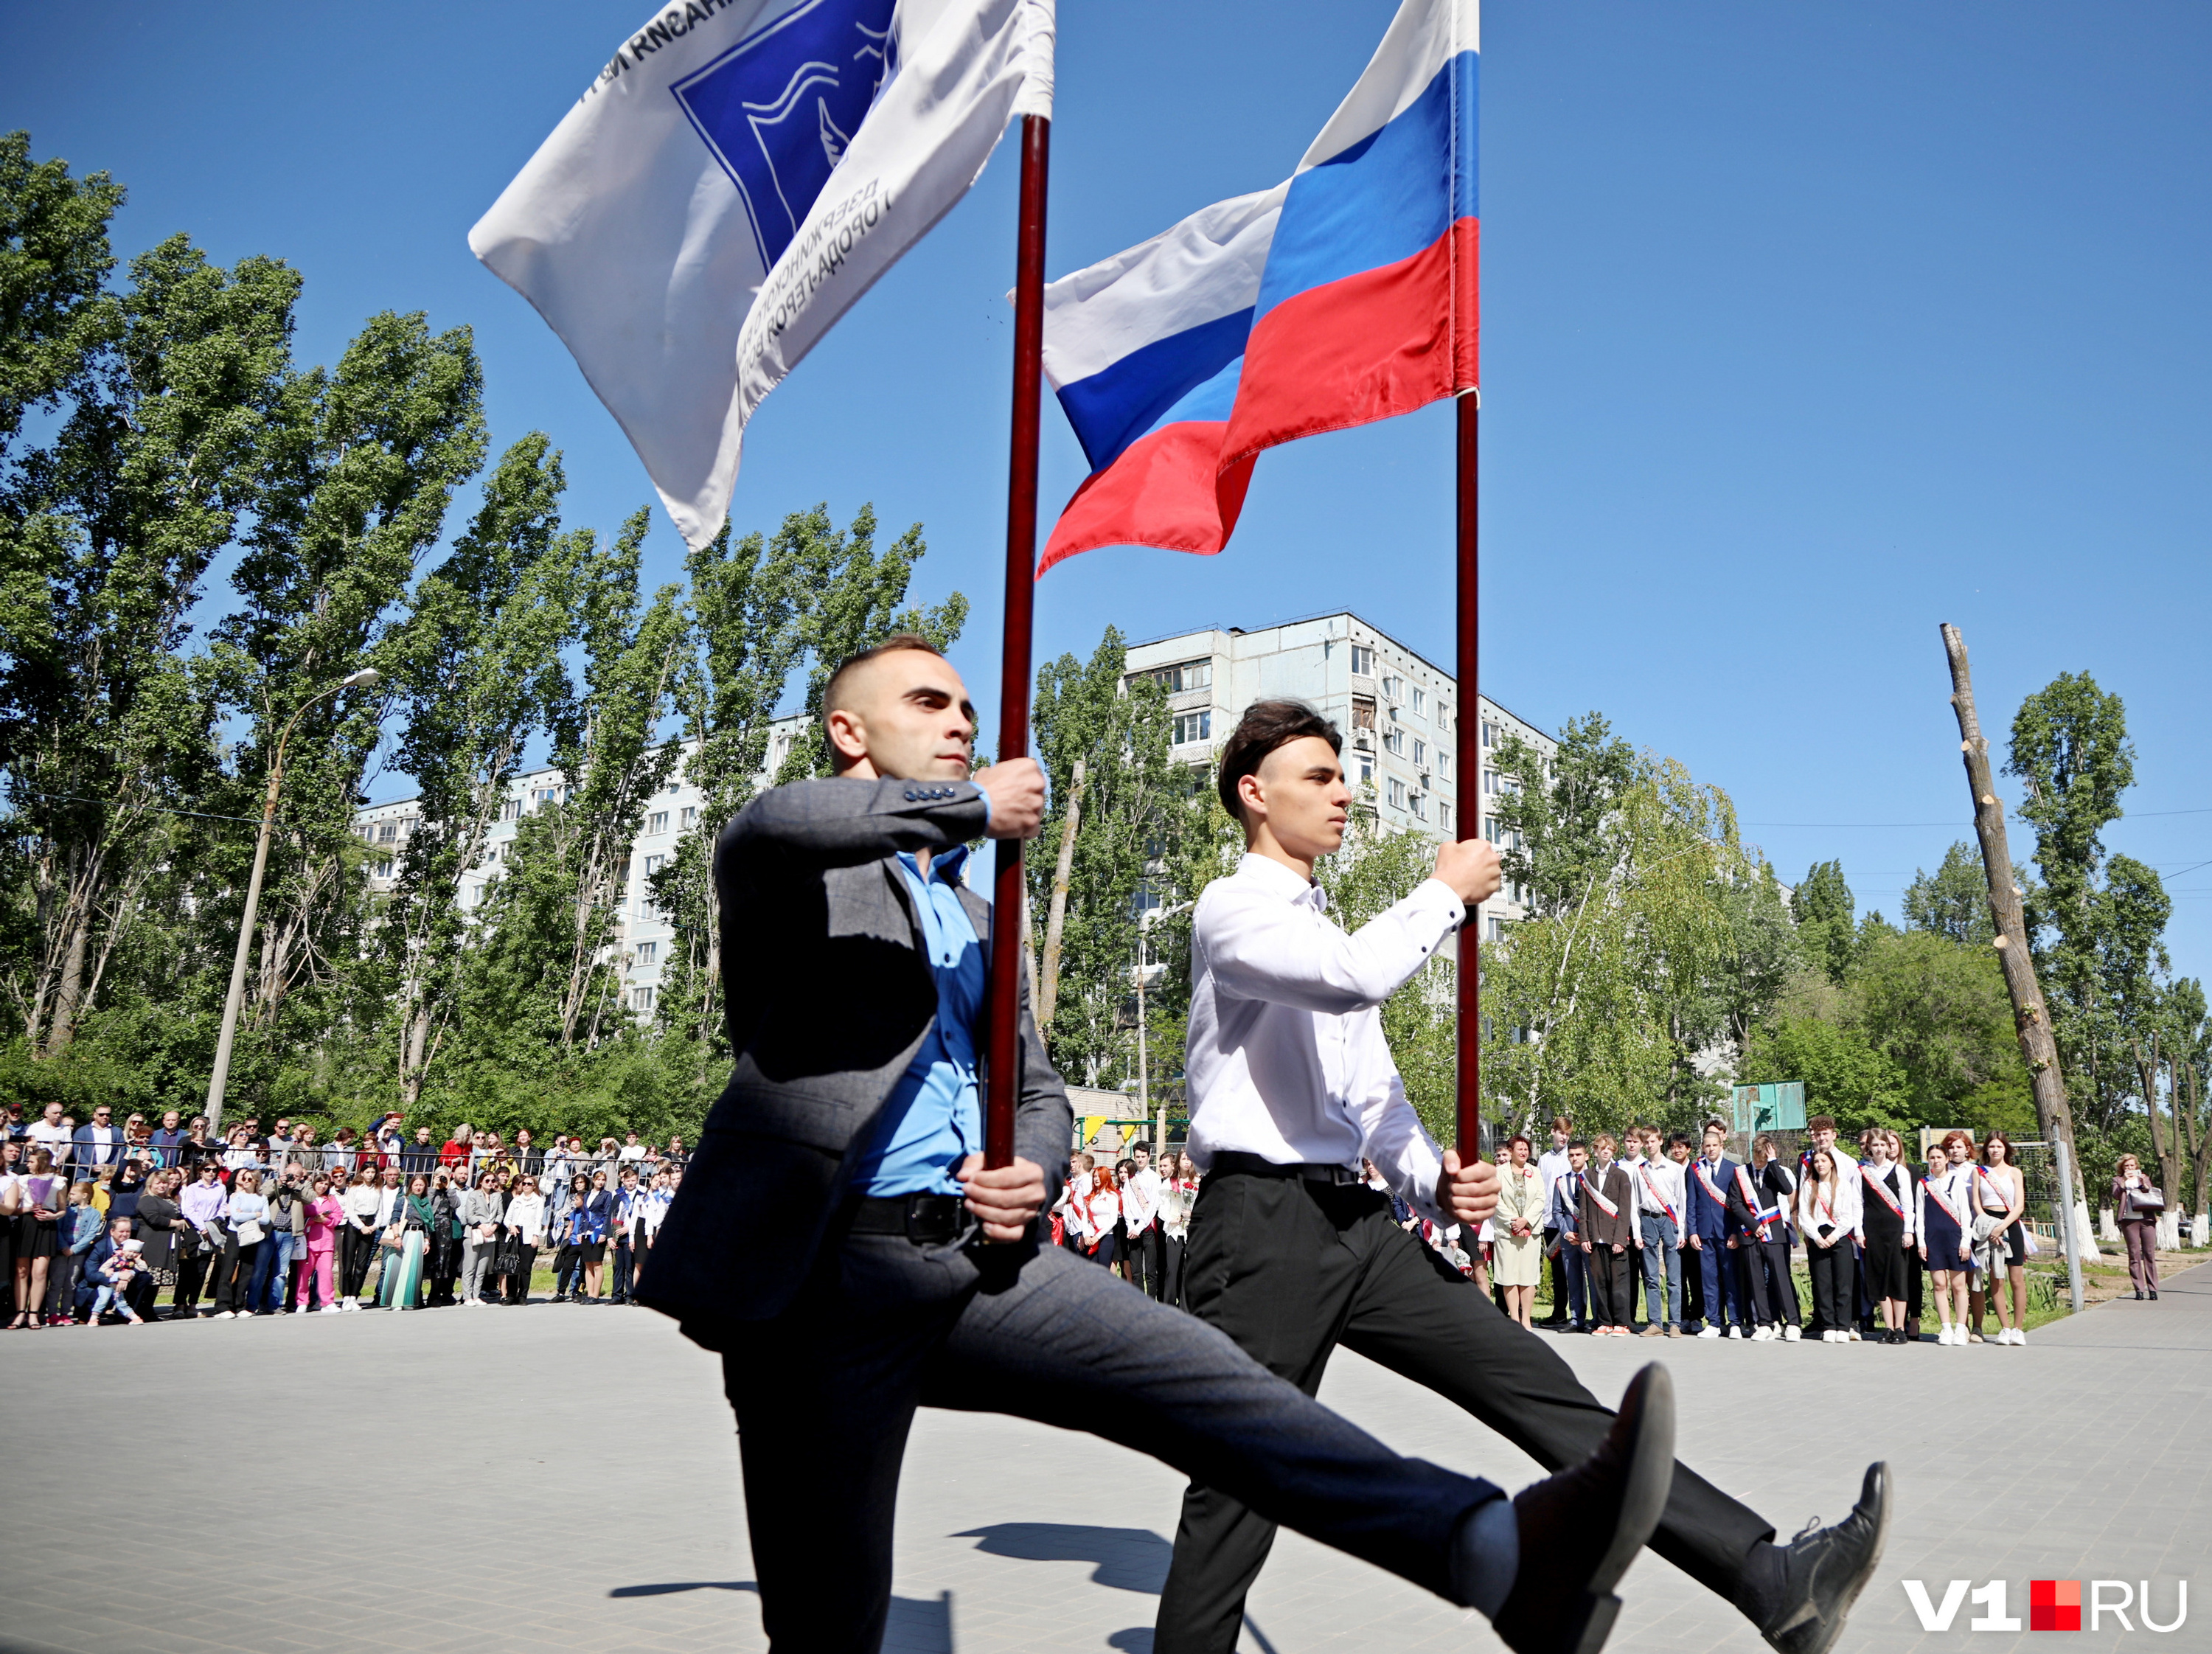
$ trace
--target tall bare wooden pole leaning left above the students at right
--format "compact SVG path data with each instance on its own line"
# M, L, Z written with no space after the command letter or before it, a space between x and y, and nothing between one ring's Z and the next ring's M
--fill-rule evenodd
M2081 1313L2081 1252L2086 1247L2093 1256L2101 1254L2097 1254L2097 1238L2088 1227L2088 1198L2075 1201L2077 1163L2066 1079L2059 1075L2059 1048L2051 1037L2051 1015L2044 1011L2044 993L2035 982L2035 960L2028 955L2028 924L2020 911L2020 887L2013 884L2013 851L2004 842L2004 803L1997 798L1997 778L1989 767L1982 719L1973 710L1966 639L1947 624L1942 646L1951 659L1951 710L1958 714L1958 750L1966 763L1966 789L1973 794L1973 831L1982 840L1982 871L1989 876L1989 918L1997 927L1991 946L2004 969L2004 991L2013 997L2020 1055L2028 1059L2028 1084L2035 1090L2035 1123L2057 1156L2066 1280L2075 1313Z

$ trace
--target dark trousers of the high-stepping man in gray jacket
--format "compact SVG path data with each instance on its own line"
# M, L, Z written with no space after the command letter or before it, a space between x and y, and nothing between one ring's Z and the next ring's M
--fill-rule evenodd
M723 1358L761 1623L776 1654L872 1654L916 1406L1106 1431L1270 1521L1449 1594L1486 1482L1402 1459L1212 1327L1060 1247L825 1243L799 1298Z

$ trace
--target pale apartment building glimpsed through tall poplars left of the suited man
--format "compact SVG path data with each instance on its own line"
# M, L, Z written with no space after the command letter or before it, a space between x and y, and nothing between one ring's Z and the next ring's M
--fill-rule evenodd
M783 765L785 756L790 756L792 741L803 727L803 714L776 719L770 725L763 781ZM686 741L684 756L688 758L697 747L697 741ZM484 900L484 884L498 878L507 858L513 854L522 818L535 809L544 809L546 805L564 803L568 792L568 778L560 770L531 770L515 776L507 785L507 798L500 800L500 818L491 823L484 854L460 876L462 909L471 909ZM697 831L699 827L708 827L710 831L721 827L721 823L701 823L699 809L699 789L684 778L684 765L679 763L675 774L668 778L668 785L646 803L637 838L630 840L630 856L622 865L622 900L615 907L615 949L624 960L624 993L630 1011L639 1017L653 1015L653 1008L659 1004L661 966L668 962L675 940L675 931L668 920L653 907L646 880L668 865L668 858L675 856L677 840L684 834ZM400 851L420 820L420 798L398 798L387 805L369 805L354 814L354 831L361 834L361 840L369 845L372 851L376 851L369 860L372 891L389 891L394 887L400 867Z

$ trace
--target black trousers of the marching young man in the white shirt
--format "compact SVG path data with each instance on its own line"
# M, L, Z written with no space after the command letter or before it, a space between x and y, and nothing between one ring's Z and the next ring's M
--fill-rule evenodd
M1305 1393L1345 1344L1473 1413L1546 1468L1586 1457L1613 1409L1553 1344L1498 1313L1473 1283L1391 1223L1367 1187L1217 1172L1190 1214L1192 1313ZM1774 1526L1674 1466L1652 1550L1734 1599L1743 1559ZM1155 1654L1228 1654L1274 1521L1194 1477L1159 1599Z

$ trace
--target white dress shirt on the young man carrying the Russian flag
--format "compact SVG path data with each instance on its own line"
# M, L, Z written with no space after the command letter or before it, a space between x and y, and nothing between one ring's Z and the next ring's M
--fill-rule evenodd
M1276 1165L1360 1156L1416 1212L1442 1223L1444 1159L1405 1099L1376 1011L1467 918L1442 880L1345 935L1318 884L1267 856L1199 896L1190 938L1190 1159Z

